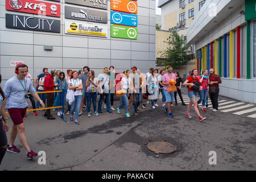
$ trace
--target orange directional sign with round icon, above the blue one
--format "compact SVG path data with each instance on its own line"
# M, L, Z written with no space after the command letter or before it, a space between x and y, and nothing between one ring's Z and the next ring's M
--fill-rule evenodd
M115 11L137 14L138 3L128 0L111 0L111 9Z

